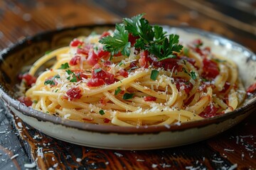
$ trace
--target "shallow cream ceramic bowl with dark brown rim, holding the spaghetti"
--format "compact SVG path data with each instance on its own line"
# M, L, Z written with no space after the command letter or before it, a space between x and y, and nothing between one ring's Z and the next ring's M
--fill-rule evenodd
M255 83L256 56L246 47L220 35L187 27L163 26L168 33L180 35L181 42L201 38L216 55L228 57L238 64L240 77L245 88ZM0 96L7 106L28 125L46 135L77 145L105 149L159 149L187 145L206 140L240 123L256 110L256 95L252 94L233 112L214 118L151 127L118 127L93 125L65 120L28 108L16 101L17 75L23 67L31 65L46 51L67 46L73 38L90 33L102 33L113 29L112 25L77 26L35 35L21 40L16 45L1 51Z

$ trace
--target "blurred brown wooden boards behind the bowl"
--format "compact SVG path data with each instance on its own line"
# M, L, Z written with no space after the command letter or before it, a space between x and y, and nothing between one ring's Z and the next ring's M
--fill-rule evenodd
M201 28L256 51L256 0L1 0L0 49L45 30L117 23L138 13L151 23Z

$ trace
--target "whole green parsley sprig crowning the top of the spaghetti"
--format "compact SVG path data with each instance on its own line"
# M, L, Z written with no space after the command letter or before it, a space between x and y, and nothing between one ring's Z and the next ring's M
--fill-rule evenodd
M132 18L124 18L123 23L117 24L114 35L104 37L100 42L105 45L104 50L112 55L121 52L122 55L130 54L131 43L128 40L129 34L137 38L134 47L141 50L148 50L158 60L176 57L174 52L180 52L182 45L178 45L178 35L166 35L160 26L151 26L149 21L142 18L144 13Z

